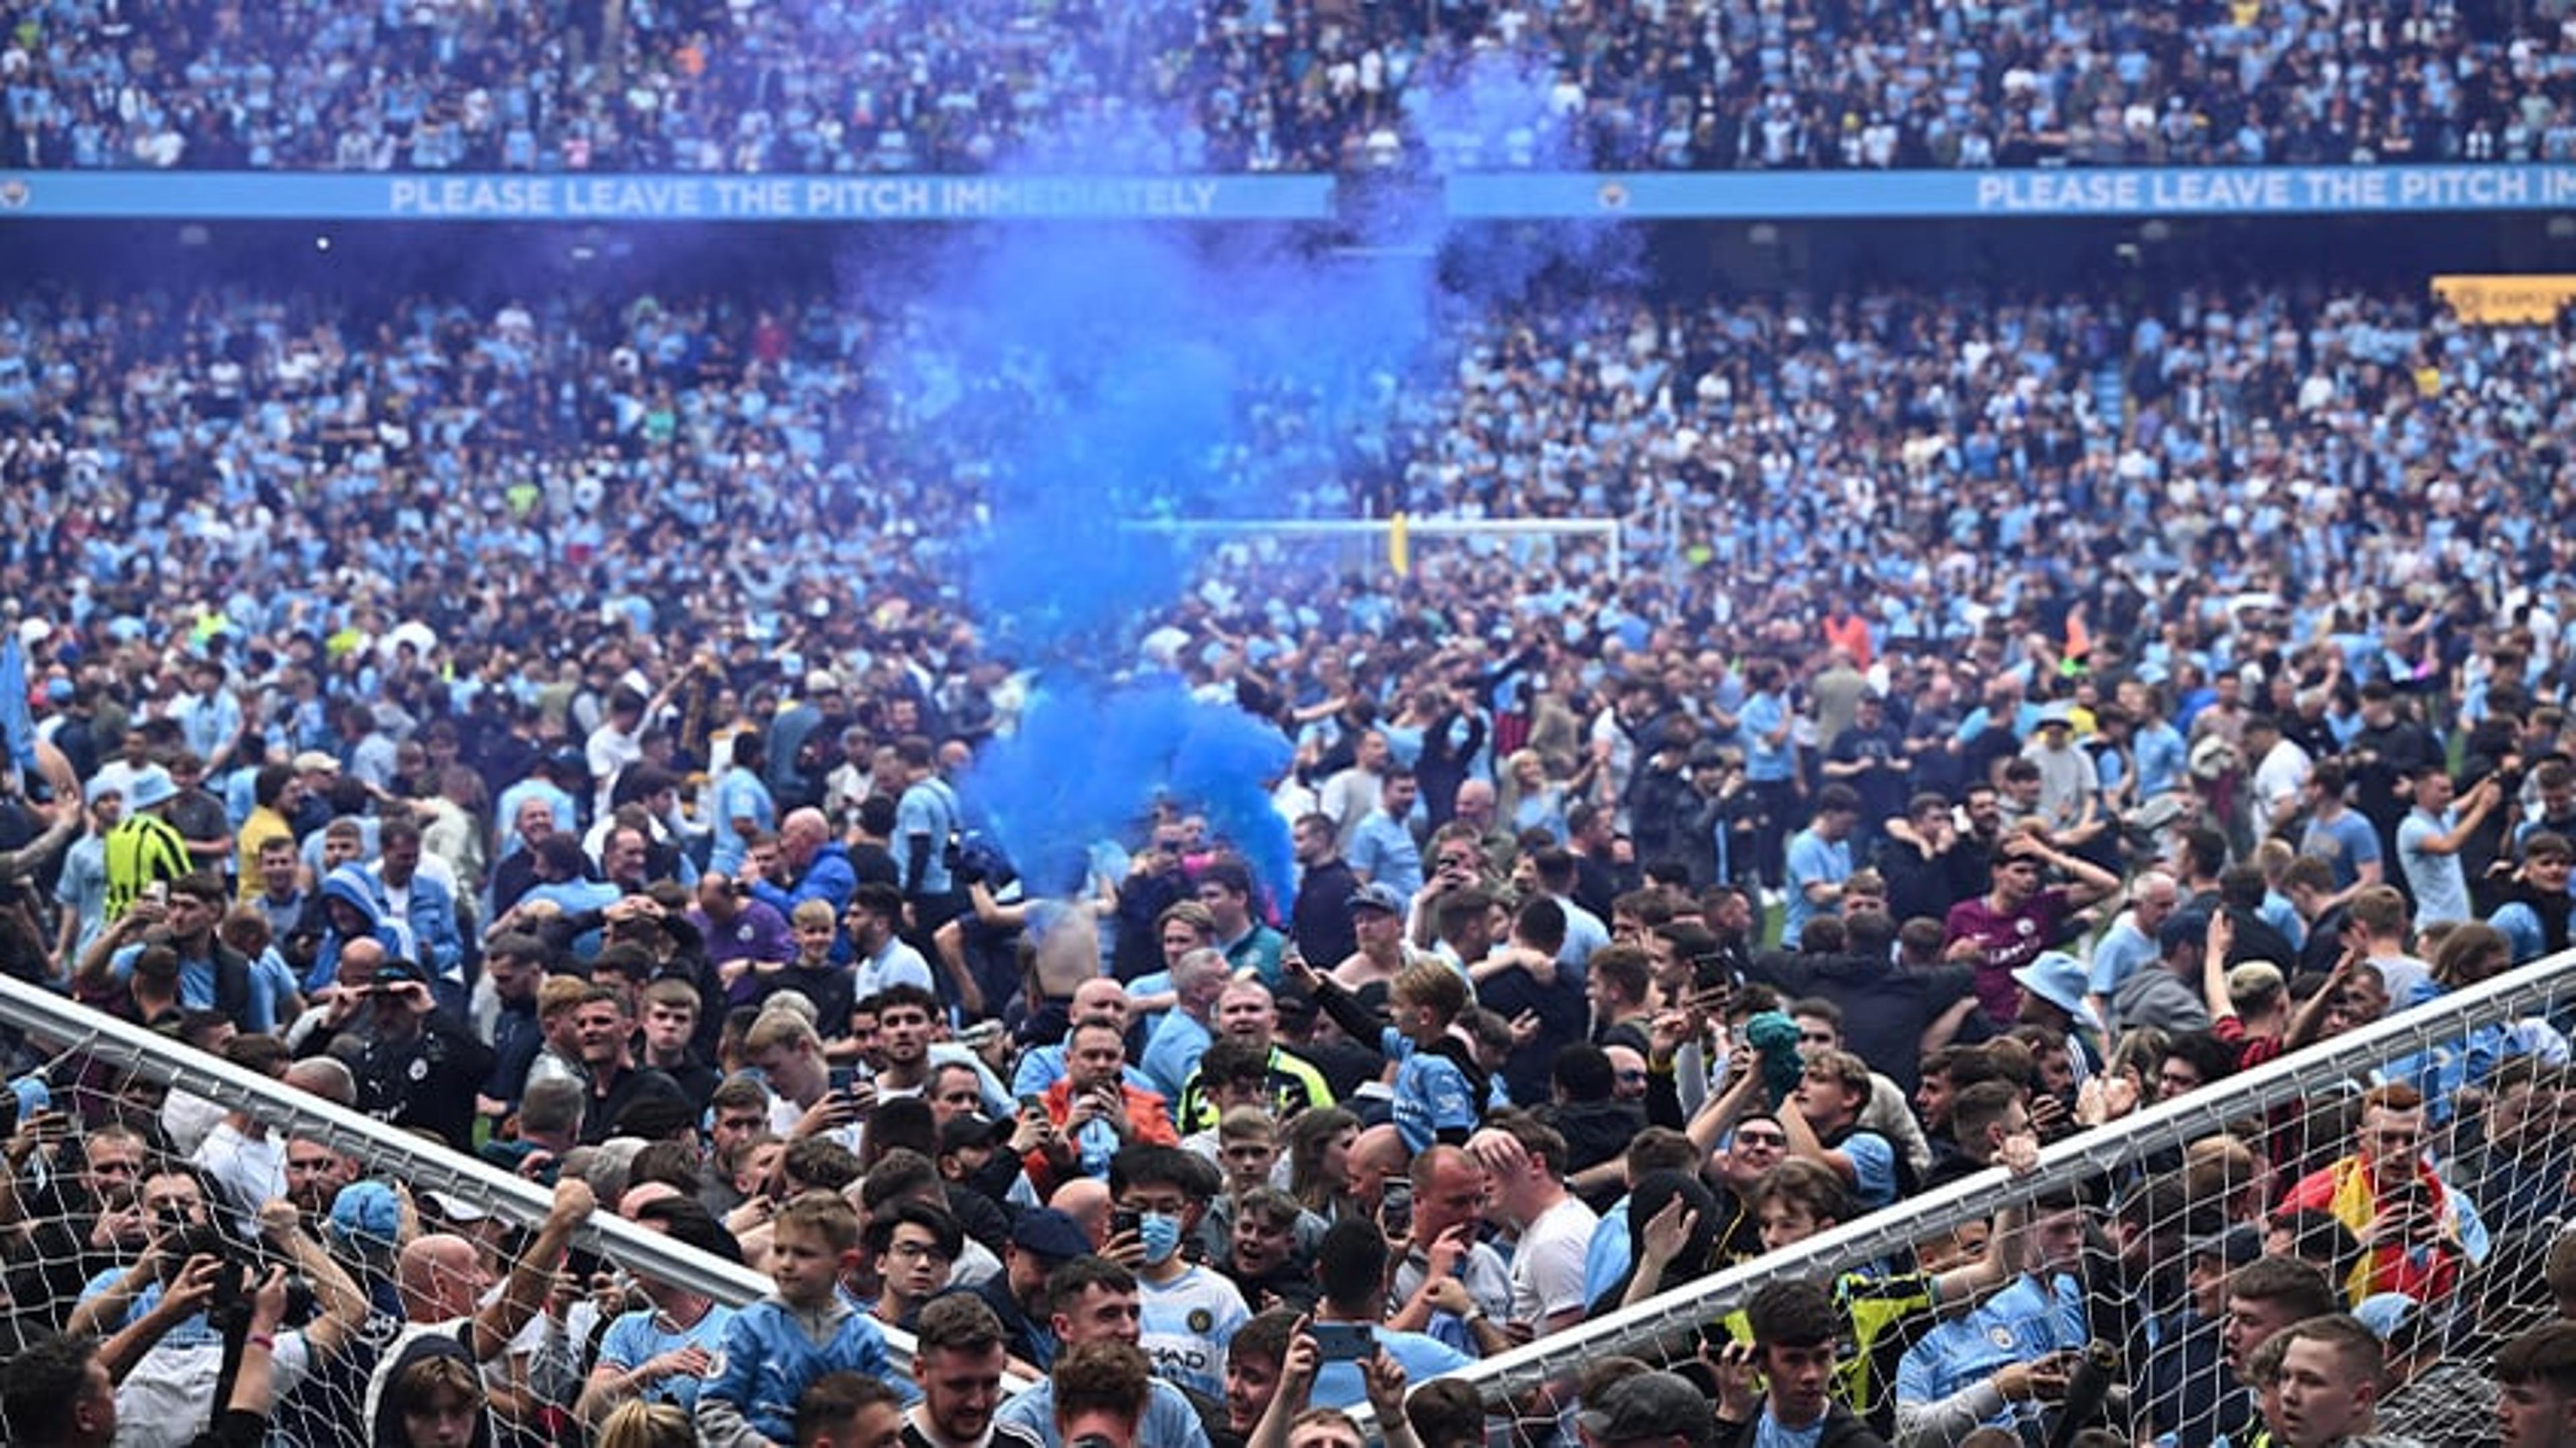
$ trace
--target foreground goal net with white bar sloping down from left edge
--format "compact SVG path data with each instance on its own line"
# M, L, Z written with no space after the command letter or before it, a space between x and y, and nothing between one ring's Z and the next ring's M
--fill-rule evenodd
M582 1384L611 1322L649 1306L644 1286L683 1288L729 1309L770 1291L765 1273L626 1221L608 1206L582 1219L567 1252L533 1260L526 1252L554 1203L536 1180L15 979L0 979L0 1023L18 1062L31 1064L13 1074L15 1100L0 1100L15 1108L13 1190L0 1203L10 1288L0 1358L62 1327L80 1296L126 1293L72 1322L98 1337L149 1314L175 1273L147 1265L134 1283L118 1286L144 1262L147 1242L180 1244L165 1257L214 1255L252 1268L294 1255L294 1239L263 1234L255 1208L229 1188L229 1172L204 1154L193 1177L165 1172L188 1159L175 1141L201 1136L227 1113L265 1129L281 1157L286 1201L304 1211L304 1237L363 1299L335 1301L335 1283L304 1262L291 1268L291 1296L312 1304L289 1306L289 1322L309 1327L296 1348L278 1353L281 1376L301 1378L278 1404L270 1438L278 1443L368 1443L368 1376L402 1327L399 1242L422 1232L471 1244L474 1265L492 1281L487 1301L523 1265L551 1278L544 1306L484 1363L495 1417L513 1443L585 1440L574 1412ZM64 1129L64 1118L77 1126ZM134 1141L131 1152L124 1141ZM312 1162L332 1162L327 1177L309 1177ZM590 1167L585 1180L616 1180L618 1170ZM325 1193L332 1193L327 1203ZM209 1208L198 1226L188 1224L191 1196ZM319 1327L332 1317L337 1322ZM170 1327L124 1381L118 1443L185 1443L206 1425L222 1358L211 1322L219 1319L191 1317ZM894 1371L909 1373L909 1335L884 1335ZM0 1433L0 1440L21 1440L21 1433Z

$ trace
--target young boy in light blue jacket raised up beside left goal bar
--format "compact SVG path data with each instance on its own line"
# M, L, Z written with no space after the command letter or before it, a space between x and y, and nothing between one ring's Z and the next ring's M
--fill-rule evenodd
M894 1384L904 1402L920 1389L894 1373L876 1322L840 1293L858 1268L858 1211L835 1193L804 1193L770 1226L770 1278L778 1291L734 1314L724 1350L698 1389L706 1448L770 1448L796 1440L796 1399L824 1373L858 1371Z

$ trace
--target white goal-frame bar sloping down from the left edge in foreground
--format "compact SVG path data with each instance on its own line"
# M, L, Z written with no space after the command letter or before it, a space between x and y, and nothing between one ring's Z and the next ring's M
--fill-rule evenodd
M412 1193L446 1193L469 1201L518 1229L533 1229L551 1206L551 1193L435 1141L425 1141L371 1116L340 1108L232 1062L183 1046L113 1015L75 1005L49 989L0 976L0 1023L23 1031L49 1059L88 1056L103 1067L188 1092L224 1110L240 1110L270 1131L322 1141L361 1162L363 1177L402 1183ZM770 1291L770 1278L739 1262L726 1262L696 1247L647 1232L603 1203L574 1237L605 1262L636 1275L659 1278L721 1306L744 1306ZM904 1373L912 1371L912 1335L886 1327L886 1353ZM1005 1386L1025 1386L1010 1378ZM355 1415L355 1407L350 1407Z

